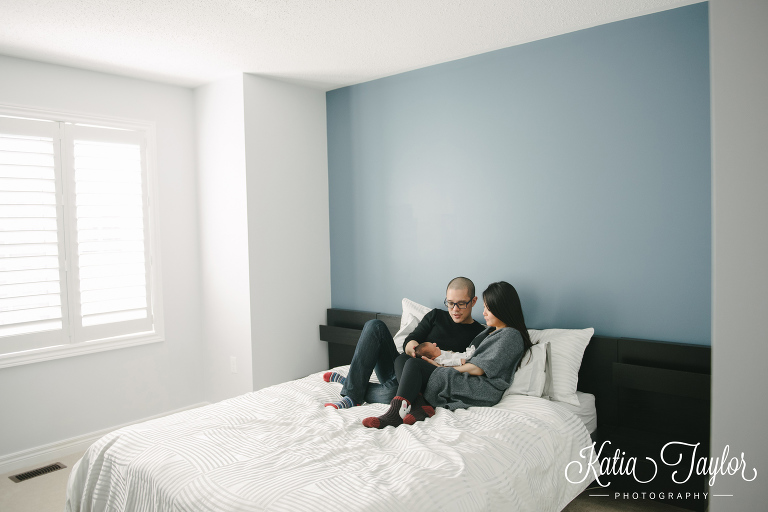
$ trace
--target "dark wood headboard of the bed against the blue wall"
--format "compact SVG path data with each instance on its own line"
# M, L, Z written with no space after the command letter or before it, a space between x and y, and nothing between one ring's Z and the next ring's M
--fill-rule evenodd
M328 342L331 368L349 364L363 325L373 319L386 323L392 335L400 329L400 315L328 310L320 339ZM593 336L578 383L579 391L595 395L598 431L593 438L609 440L640 460L649 453L658 458L660 446L671 440L701 443L709 453L710 374L708 346ZM633 490L632 482L625 484ZM703 478L690 481L692 492L703 492L704 486ZM689 504L692 510L699 505Z

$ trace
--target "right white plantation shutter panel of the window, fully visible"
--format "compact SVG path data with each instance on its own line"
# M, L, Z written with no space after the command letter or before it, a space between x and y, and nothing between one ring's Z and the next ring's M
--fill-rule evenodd
M67 125L74 169L76 339L152 329L141 132Z

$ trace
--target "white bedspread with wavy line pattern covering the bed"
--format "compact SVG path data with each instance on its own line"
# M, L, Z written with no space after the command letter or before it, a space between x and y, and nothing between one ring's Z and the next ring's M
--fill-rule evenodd
M591 440L547 400L508 396L376 430L361 420L387 406L325 408L341 385L321 375L104 436L72 469L67 511L546 512L592 480L566 480Z

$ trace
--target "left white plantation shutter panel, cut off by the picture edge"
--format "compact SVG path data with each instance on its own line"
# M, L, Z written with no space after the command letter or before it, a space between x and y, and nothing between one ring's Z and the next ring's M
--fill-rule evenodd
M0 349L67 342L57 123L0 117Z

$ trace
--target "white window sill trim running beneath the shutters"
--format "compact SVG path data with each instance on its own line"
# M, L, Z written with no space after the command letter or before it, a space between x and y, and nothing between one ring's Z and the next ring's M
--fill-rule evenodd
M163 336L160 334L150 332L103 340L86 341L83 343L73 343L71 345L56 345L54 347L12 352L10 354L0 354L0 368L38 363L41 361L51 361L53 359L62 359L65 357L85 354L94 354L106 350L117 350L120 348L147 345L149 343L161 342L163 339Z

